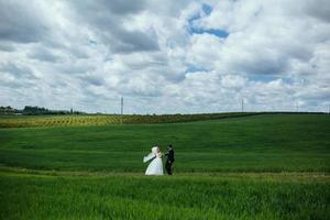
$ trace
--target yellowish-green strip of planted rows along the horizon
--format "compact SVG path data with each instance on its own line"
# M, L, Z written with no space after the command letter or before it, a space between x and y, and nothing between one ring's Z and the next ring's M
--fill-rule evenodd
M67 114L67 116L0 116L0 128L107 125L132 123L174 123L255 116L260 113L205 114Z

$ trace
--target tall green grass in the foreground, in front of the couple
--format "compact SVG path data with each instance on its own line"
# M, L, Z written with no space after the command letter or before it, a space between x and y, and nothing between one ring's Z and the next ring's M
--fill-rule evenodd
M1 219L300 220L330 208L329 176L0 174Z

